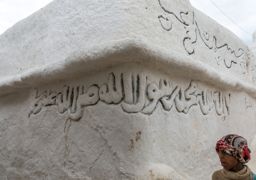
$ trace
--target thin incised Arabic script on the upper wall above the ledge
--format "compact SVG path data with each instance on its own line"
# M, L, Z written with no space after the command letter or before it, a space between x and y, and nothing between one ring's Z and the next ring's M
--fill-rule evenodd
M233 50L228 44L217 45L216 36L208 31L204 31L199 27L198 22L195 19L195 13L189 9L185 2L179 2L180 7L170 7L167 1L158 0L159 5L163 10L163 15L158 16L160 25L165 31L172 30L173 22L172 17L175 17L179 23L184 25L184 31L186 37L183 38L183 46L188 55L195 54L195 46L199 39L202 39L205 46L214 52L214 58L218 65L223 61L226 68L231 68L233 64L239 64L241 72L246 73L246 63L244 60L244 50L239 48ZM247 53L248 54L248 53Z

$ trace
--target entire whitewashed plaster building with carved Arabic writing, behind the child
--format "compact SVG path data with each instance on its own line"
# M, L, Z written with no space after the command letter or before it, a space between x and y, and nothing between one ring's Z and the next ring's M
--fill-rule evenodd
M0 178L210 179L256 60L188 1L53 1L0 35Z

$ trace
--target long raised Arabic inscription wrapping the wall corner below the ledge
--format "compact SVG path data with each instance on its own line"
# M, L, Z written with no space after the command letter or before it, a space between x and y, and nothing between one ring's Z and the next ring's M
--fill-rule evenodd
M148 83L147 76L140 73L111 73L108 82L100 88L96 84L87 90L83 85L63 86L62 92L48 90L40 95L35 88L29 117L39 113L43 107L56 105L59 113L67 111L69 118L79 120L83 116L84 108L96 105L98 101L120 104L127 113L151 114L160 102L166 111L176 109L186 114L191 106L199 105L204 115L213 108L218 115L230 114L230 94L210 89L202 90L196 81L191 80L184 88L174 85L168 79L160 79L157 84Z

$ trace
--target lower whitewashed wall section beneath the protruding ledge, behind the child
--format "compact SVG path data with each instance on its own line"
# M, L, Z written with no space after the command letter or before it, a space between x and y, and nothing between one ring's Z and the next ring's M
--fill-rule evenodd
M246 93L136 64L0 102L8 179L209 179L221 167L219 136L239 133L250 144L256 125Z

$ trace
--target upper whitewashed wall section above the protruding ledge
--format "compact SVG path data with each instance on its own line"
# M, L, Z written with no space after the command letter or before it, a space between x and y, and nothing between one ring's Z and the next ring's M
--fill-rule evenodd
M66 59L84 46L124 38L190 55L246 80L245 43L189 1L167 0L53 1L0 35L0 78Z

